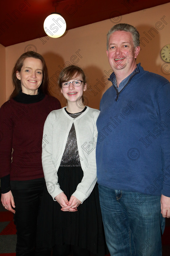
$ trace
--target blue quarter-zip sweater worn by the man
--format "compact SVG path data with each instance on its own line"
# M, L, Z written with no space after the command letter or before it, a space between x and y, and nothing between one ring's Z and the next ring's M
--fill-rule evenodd
M168 80L138 64L120 92L113 85L104 93L97 130L100 185L170 197Z

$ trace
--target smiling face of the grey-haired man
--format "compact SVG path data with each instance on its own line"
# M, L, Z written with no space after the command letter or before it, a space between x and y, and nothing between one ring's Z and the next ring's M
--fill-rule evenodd
M131 74L136 68L136 57L139 53L139 47L134 48L132 34L126 31L115 31L110 35L107 57L111 68L123 70Z

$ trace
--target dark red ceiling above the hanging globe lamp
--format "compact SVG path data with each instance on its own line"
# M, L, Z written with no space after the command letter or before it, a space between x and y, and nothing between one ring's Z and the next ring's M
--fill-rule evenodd
M66 30L168 3L166 0L0 0L0 44L9 46L45 36L45 18L56 12ZM119 18L116 18L119 16ZM147 18L147 17L146 17ZM114 25L114 24L113 24Z

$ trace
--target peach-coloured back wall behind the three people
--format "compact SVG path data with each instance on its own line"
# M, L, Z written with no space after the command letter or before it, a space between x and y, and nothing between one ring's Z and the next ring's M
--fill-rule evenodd
M60 99L62 106L65 101L56 88L57 76L63 65L77 64L87 75L86 103L90 107L99 108L103 93L111 86L107 81L111 68L106 55L106 34L116 23L129 23L137 27L143 37L137 63L141 62L145 70L170 80L170 63L165 63L160 57L162 47L170 43L169 13L170 3L69 30L60 38L42 37L7 47L6 99L12 92L11 72L15 61L29 49L44 56L49 69L51 92ZM4 84L4 78L0 79L1 84Z

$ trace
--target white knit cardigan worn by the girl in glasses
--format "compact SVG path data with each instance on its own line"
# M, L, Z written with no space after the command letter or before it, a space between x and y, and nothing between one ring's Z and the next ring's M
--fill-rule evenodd
M46 119L42 141L42 166L49 194L54 198L63 192L58 183L57 171L74 123L83 179L73 196L83 203L92 192L96 181L96 120L100 111L89 108L77 118L70 117L64 108L52 111Z

